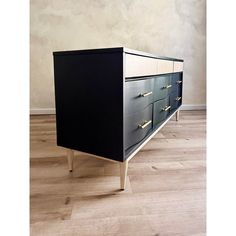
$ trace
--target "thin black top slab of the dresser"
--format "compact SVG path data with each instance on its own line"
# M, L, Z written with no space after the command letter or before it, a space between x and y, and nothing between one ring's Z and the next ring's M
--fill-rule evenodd
M114 48L96 48L96 49L82 49L82 50L69 50L69 51L54 51L54 56L64 56L64 55L79 55L79 54L98 54L98 53L127 53L137 56L144 56L144 57L151 57L156 59L162 60L172 60L172 61L180 61L183 62L183 59L173 58L173 57L165 57L165 56L158 56L155 54L142 52L134 49L129 49L125 47L114 47Z

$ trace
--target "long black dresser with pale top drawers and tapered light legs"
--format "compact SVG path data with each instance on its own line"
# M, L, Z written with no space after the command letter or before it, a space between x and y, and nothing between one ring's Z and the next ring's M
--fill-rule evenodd
M128 162L182 104L183 60L124 47L53 52L57 145L120 165Z

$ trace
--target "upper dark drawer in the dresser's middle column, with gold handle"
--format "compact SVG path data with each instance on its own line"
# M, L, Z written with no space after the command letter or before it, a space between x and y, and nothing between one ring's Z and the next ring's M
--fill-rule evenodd
M172 90L171 75L157 76L154 79L154 101L168 96Z

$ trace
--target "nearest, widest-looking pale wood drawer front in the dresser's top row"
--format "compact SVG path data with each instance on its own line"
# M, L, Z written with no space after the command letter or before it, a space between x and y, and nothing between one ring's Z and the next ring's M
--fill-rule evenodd
M125 54L125 77L157 74L157 59Z

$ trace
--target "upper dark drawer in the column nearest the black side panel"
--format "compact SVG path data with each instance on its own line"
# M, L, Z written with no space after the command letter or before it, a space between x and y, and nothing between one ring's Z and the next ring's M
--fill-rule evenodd
M125 82L125 114L142 110L153 101L154 79Z

